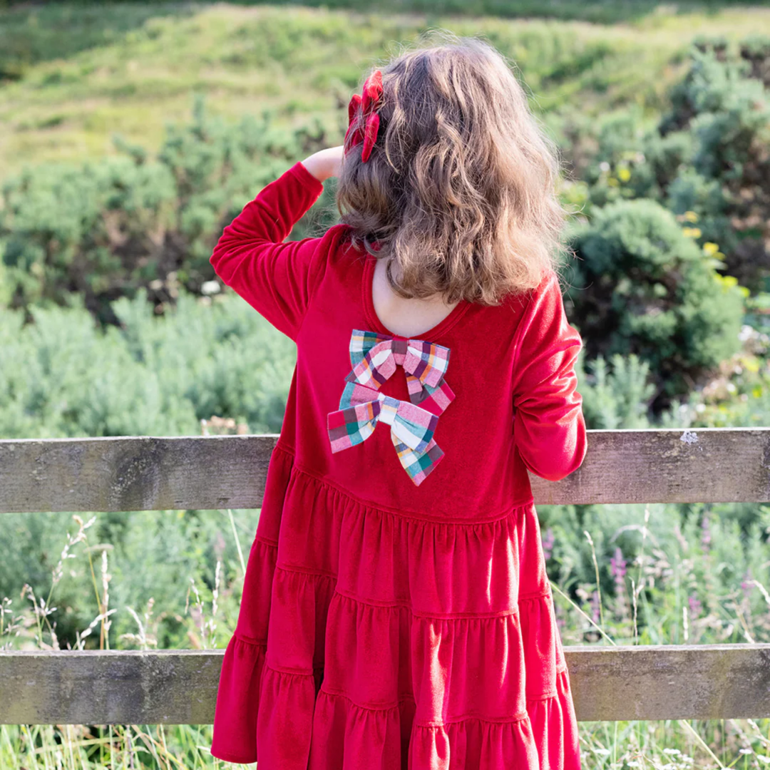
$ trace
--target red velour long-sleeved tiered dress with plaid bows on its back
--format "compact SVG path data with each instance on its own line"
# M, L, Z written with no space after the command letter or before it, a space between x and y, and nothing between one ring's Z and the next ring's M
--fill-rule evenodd
M282 243L322 189L297 163L211 256L297 346L211 752L259 770L576 770L527 476L564 477L586 449L556 276L407 340L378 320L376 259L346 226Z

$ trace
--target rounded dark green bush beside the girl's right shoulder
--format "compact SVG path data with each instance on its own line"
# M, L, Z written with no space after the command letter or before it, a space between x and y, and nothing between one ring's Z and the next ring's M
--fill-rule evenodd
M638 355L650 366L658 407L738 350L742 291L658 203L595 209L571 246L567 298L588 358Z

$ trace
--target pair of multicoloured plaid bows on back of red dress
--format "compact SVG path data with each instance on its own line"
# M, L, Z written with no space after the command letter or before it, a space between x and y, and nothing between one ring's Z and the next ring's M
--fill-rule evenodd
M356 329L350 337L350 363L353 369L346 377L340 408L326 418L332 452L363 443L382 421L390 425L404 470L414 484L422 484L444 457L433 434L439 414L454 399L444 382L449 348ZM407 375L409 401L378 390L397 366Z

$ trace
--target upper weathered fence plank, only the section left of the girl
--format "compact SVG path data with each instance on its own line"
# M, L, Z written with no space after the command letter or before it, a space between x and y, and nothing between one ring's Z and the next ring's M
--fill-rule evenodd
M258 508L276 439L0 440L0 511Z

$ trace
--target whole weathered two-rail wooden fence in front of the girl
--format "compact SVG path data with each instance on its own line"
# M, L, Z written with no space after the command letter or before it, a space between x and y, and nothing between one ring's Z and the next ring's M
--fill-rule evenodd
M276 436L0 440L0 513L257 508ZM766 502L770 429L594 430L538 504ZM222 651L0 652L0 724L206 724ZM565 649L582 721L770 717L770 644Z

